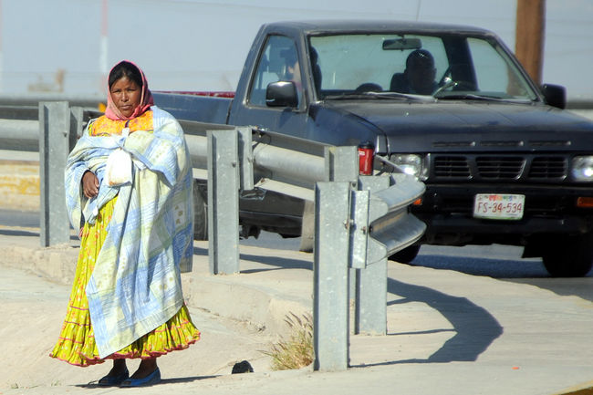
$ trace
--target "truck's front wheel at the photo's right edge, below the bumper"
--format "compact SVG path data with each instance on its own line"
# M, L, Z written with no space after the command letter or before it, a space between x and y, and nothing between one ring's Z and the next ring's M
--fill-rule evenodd
M593 265L593 234L558 237L542 256L553 277L582 277Z

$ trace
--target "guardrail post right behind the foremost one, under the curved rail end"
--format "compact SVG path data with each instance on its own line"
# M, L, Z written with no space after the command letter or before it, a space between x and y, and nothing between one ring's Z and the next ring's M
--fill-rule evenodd
M371 204L372 192L384 190L389 186L389 177L359 177L359 190L371 193L369 199L364 202L367 207ZM373 219L372 207L369 207L368 223L370 224ZM375 241L368 242L368 248L372 248ZM387 333L387 255L383 255L372 265L367 262L365 268L356 270L354 333L361 332L378 335Z

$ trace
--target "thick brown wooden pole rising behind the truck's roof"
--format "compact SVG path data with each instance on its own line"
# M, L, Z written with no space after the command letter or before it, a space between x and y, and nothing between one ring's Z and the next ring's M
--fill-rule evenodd
M536 84L542 83L546 0L517 0L515 55Z

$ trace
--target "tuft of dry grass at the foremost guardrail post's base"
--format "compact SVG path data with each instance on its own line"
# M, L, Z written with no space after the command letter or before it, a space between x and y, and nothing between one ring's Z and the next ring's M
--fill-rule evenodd
M282 339L272 346L271 351L263 351L272 357L272 369L301 369L313 362L313 317L305 314L297 317L294 313L285 318L292 329L290 338Z

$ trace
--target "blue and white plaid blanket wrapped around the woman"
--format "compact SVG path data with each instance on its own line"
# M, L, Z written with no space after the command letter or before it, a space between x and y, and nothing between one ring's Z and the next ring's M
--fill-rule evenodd
M192 165L182 128L169 113L151 108L154 131L126 139L90 136L68 156L66 200L75 229L94 223L116 195L105 243L88 286L88 309L99 358L105 358L161 326L183 305L180 273L191 271L193 240ZM109 153L122 148L134 162L132 182L104 181ZM87 199L82 175L99 177L99 195ZM81 222L82 221L82 222Z

